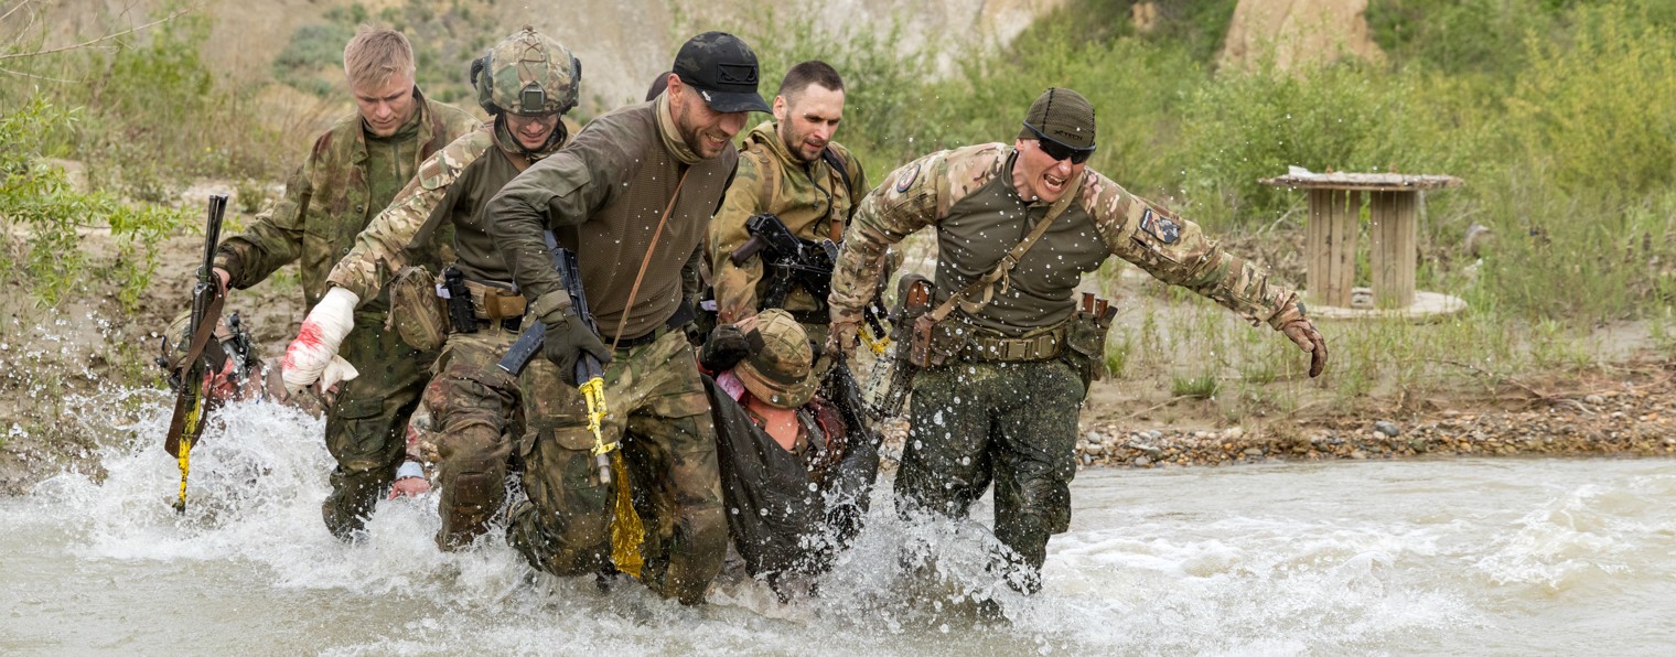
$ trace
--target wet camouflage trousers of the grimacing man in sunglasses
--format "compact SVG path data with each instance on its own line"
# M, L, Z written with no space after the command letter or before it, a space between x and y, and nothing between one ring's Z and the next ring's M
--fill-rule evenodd
M913 377L897 511L965 518L996 484L996 538L1026 592L1071 525L1083 379L1063 360L949 362Z

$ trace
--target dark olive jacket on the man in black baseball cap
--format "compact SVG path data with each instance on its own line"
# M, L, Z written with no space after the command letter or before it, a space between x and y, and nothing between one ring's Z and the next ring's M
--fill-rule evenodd
M732 142L699 159L660 96L590 121L563 151L506 183L489 201L489 235L538 317L568 303L541 236L553 230L577 253L605 342L640 337L682 303L682 266L704 241L737 161ZM665 208L669 220L659 230ZM634 290L642 261L645 280Z

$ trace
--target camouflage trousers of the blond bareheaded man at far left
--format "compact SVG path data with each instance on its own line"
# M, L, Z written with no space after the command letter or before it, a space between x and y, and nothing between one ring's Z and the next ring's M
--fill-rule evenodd
M384 313L355 313L355 330L339 347L359 377L339 385L327 409L325 447L337 459L332 494L320 508L327 530L349 540L362 530L396 481L407 451L407 419L431 380L436 354L384 332Z

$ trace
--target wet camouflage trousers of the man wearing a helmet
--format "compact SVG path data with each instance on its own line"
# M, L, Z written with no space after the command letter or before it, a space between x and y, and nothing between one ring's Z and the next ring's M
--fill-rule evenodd
M499 369L518 334L481 327L453 334L436 360L437 374L426 385L424 404L436 426L437 513L442 550L469 545L506 501L506 469L513 437L523 434L518 379ZM540 357L540 355L538 355ZM551 369L525 370L525 377Z

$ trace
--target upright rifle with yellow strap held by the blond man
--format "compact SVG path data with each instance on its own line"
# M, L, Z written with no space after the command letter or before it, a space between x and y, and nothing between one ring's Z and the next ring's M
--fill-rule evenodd
M226 211L226 194L210 196L210 215L204 220L204 258L198 266L198 285L193 285L193 313L186 335L191 342L186 347L186 359L179 362L171 379L179 380L174 396L174 414L169 417L169 432L163 441L163 449L174 456L181 468L181 491L174 499L174 513L186 513L186 474L191 471L193 444L204 432L204 372L210 362L204 357L204 345L215 335L216 320L221 318L221 282L215 275L215 248L221 241L221 215Z

